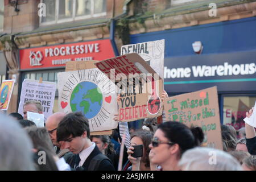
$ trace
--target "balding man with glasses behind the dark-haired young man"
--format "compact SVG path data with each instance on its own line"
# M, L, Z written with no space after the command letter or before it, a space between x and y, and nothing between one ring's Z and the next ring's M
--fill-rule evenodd
M50 115L46 121L46 129L48 131L49 137L52 140L53 146L55 146L55 151L57 156L59 156L59 158L63 157L65 160L67 160L72 155L72 152L69 152L68 149L60 150L61 144L57 142L57 134L56 134L57 127L60 121L65 117L65 115L66 115L65 113L61 113L61 112L57 112Z

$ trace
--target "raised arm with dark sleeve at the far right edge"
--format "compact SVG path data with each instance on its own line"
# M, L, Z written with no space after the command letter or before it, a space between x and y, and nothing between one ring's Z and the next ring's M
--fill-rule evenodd
M253 109L250 109L249 112L246 112L246 117L251 118L253 114ZM246 134L246 146L251 155L256 155L256 133L253 126L248 125L245 122L245 134Z

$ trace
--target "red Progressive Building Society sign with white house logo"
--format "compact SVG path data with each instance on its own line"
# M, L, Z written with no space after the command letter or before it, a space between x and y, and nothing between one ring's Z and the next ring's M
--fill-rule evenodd
M104 60L113 57L109 39L20 49L20 69L64 67L67 61Z

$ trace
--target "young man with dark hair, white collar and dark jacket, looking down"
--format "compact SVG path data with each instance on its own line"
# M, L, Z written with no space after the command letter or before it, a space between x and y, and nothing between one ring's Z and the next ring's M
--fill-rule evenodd
M114 171L112 162L90 140L88 119L80 112L69 113L57 127L57 142L61 149L68 148L73 154L67 163L75 170Z

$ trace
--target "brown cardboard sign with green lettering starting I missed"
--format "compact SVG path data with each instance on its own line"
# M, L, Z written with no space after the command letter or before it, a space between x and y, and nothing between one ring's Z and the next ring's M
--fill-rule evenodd
M167 121L201 127L204 132L203 145L223 150L217 86L169 97L163 105Z

